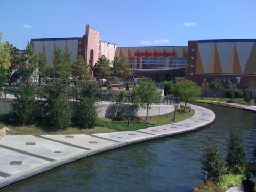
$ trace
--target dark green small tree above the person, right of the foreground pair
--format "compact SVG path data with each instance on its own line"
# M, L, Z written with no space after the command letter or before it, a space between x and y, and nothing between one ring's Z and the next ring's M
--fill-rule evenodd
M241 167L244 165L247 155L246 146L244 144L243 133L239 129L232 129L228 142L227 165L230 169Z

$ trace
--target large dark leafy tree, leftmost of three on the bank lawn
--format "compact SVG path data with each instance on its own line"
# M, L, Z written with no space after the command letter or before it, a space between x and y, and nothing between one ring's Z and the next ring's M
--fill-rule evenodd
M18 124L33 122L36 111L34 86L21 84L14 96L10 120Z

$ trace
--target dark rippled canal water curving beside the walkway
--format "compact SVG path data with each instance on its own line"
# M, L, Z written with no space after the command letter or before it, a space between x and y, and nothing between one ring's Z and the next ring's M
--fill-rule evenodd
M197 104L198 105L198 104ZM242 129L252 159L256 113L200 104L216 114L200 130L86 157L0 189L5 191L192 191L202 181L198 147L203 136L220 141L226 155L229 131Z

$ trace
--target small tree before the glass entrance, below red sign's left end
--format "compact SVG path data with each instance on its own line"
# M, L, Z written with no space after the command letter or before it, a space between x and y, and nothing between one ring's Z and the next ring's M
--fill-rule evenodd
M125 60L125 58L117 61L117 66L115 66L115 75L122 79L127 79L132 75L130 64Z

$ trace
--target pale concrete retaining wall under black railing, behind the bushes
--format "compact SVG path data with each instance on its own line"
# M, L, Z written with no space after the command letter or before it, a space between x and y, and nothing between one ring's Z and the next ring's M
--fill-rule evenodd
M0 113L9 113L11 111L11 103L12 103L11 98L1 98L0 100ZM71 108L73 111L76 110L76 103L77 102L71 102ZM112 103L101 103L97 102L97 105L99 106L98 108L98 116L99 117L110 117L110 111L111 111L111 104ZM131 105L127 105L127 116L142 116L146 117L147 110L139 108L135 111L131 109ZM148 110L148 116L154 116L154 115L163 115L166 113L170 113L174 111L174 105L151 105L151 109ZM177 105L176 110L180 108L180 105ZM42 113L42 111L37 111L38 116L46 115L46 113Z

